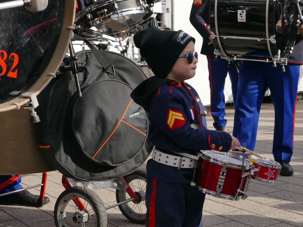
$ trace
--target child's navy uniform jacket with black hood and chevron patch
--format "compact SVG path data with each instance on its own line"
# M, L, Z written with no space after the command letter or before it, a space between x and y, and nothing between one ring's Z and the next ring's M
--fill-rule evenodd
M208 130L206 108L193 87L185 82L150 77L131 94L132 99L148 111L149 139L164 153L175 152L196 155L200 150L227 152L231 148L231 135ZM201 129L191 128L193 110L195 123ZM189 183L194 169L179 169L154 160L147 164L147 176L171 183Z

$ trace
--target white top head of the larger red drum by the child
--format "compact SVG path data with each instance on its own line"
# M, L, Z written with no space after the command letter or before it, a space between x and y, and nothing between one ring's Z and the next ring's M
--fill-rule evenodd
M228 167L242 169L242 157L240 155L224 153L214 150L205 150L202 151L201 157L212 163L223 166L224 163L228 163ZM244 159L245 169L251 169L253 163L247 158Z

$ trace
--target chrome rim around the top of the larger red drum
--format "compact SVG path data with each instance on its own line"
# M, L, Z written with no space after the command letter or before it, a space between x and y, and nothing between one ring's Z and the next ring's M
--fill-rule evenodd
M215 151L215 150L203 150L203 151L201 151L201 153L198 153L198 156L201 157L202 159L204 159L204 160L206 160L208 162L211 162L211 163L218 164L220 166L223 166L224 163L226 163L226 162L223 162L223 161L220 161L220 160L216 160L216 159L208 156L206 154L207 152L209 152L209 153L216 153L216 154L223 155L223 156L228 156L228 157L235 158L237 160L241 160L242 161L242 156L237 155L237 154L227 153L227 152L221 152L221 151ZM246 159L245 161L251 163L251 165L244 165L244 169L245 170L255 169L254 163L252 161L248 160L247 158L245 158L245 159ZM230 168L233 168L233 169L242 169L242 165L234 164L234 163L228 163L227 167L230 167Z

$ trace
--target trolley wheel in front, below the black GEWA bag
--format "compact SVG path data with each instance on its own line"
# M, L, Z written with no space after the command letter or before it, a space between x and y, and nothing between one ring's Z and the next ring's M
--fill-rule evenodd
M84 209L79 209L82 205L78 206L80 202L77 198L83 203ZM76 199L77 206L73 199ZM55 204L54 218L56 227L107 226L105 207L99 196L91 189L80 186L61 193Z

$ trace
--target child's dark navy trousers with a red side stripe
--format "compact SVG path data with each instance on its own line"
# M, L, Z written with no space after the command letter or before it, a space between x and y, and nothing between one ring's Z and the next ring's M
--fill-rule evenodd
M146 227L202 226L204 200L205 194L189 183L176 184L147 177Z

